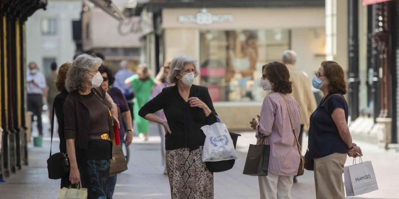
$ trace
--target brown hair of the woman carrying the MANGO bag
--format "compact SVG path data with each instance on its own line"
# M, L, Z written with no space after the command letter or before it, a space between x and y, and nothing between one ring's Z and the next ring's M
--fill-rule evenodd
M346 81L344 70L342 67L334 61L323 61L321 66L324 69L324 76L329 80L328 92L329 93L341 93L345 95L347 93Z

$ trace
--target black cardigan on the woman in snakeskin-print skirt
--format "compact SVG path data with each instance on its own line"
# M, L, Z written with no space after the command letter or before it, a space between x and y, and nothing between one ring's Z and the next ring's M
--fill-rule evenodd
M202 126L216 122L216 112L210 99L208 89L193 85L190 89L190 98L197 97L211 110L206 117L199 107L190 107L190 103L183 100L177 85L167 87L154 99L147 102L139 111L141 117L164 109L172 134L166 133L165 148L174 150L187 147L190 151L203 146L205 135L200 129Z

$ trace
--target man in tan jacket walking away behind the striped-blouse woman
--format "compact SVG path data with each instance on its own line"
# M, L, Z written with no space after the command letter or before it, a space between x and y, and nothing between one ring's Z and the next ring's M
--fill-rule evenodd
M295 66L297 54L293 50L283 52L282 63L285 64L290 72L290 81L292 82L291 96L298 102L301 108L301 129L299 132L299 143L302 146L302 133L309 129L310 115L317 108L315 96L312 92L309 77ZM297 180L294 177L294 183Z

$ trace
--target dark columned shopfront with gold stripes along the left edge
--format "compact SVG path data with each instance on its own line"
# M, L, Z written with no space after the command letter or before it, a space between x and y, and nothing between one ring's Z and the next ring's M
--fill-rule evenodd
M47 0L0 3L0 180L28 164L25 120L25 21Z

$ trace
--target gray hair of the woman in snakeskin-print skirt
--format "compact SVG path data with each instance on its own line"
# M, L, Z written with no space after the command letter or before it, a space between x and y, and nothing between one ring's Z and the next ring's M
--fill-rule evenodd
M197 69L197 60L194 58L191 58L188 55L178 55L175 58L173 58L172 63L171 63L171 72L169 73L168 79L171 83L177 83L178 79L176 78L180 71L184 69L184 67L188 64L193 64L194 65L194 70L195 70L195 77L198 76L199 72Z

